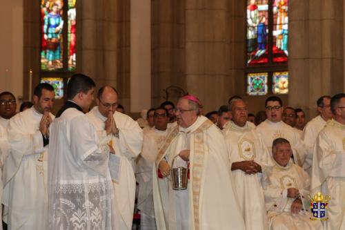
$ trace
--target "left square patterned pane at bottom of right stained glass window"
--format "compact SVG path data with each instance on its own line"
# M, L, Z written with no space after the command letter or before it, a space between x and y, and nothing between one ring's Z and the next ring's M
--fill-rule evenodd
M266 95L268 73L248 73L247 75L247 93L251 96Z

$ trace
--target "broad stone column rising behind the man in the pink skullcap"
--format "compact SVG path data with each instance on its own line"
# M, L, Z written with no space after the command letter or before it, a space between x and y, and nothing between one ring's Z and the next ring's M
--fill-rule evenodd
M186 88L204 111L226 103L230 86L228 1L186 1Z

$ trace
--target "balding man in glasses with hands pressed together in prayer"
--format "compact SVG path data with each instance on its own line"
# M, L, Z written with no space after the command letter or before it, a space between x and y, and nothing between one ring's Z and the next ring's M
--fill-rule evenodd
M119 178L113 180L115 191L115 229L131 229L135 204L135 158L141 152L143 131L139 124L124 113L116 111L118 93L112 86L99 88L97 106L86 114L94 124L101 143L108 143L115 149L121 166ZM114 157L110 155L110 157Z

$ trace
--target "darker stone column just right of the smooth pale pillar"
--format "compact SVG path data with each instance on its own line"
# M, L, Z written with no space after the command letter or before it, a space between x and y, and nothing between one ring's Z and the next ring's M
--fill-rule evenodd
M152 105L158 106L168 86L186 89L185 78L185 2L151 1ZM176 102L175 95L168 98Z

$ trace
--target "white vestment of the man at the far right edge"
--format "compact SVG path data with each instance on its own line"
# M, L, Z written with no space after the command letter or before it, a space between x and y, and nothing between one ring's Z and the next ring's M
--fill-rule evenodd
M345 229L345 125L330 120L314 148L311 195L331 195L326 229Z

